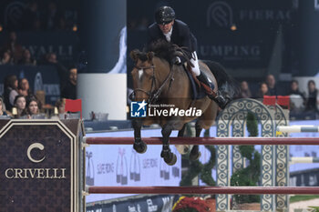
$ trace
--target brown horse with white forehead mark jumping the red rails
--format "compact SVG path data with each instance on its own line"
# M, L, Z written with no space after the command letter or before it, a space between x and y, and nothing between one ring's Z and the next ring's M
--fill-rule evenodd
M170 151L172 130L179 130L178 136L183 136L186 124L197 118L195 129L196 136L199 137L202 129L209 129L214 124L219 110L217 104L208 96L192 99L190 78L184 66L172 62L176 56L182 56L190 61L190 56L186 54L186 51L168 42L154 43L149 48L149 52L140 52L137 49L130 52L130 57L135 64L131 71L134 88L132 100L142 102L144 105L155 106L154 111L157 109L156 106L174 106L172 110L176 112L169 116L164 116L163 113L157 117L132 118L133 148L140 154L145 153L147 146L140 136L141 126L159 124L163 144L160 156L170 166L173 166L177 160L176 155ZM191 64L188 63L188 65L190 68ZM223 66L212 61L201 60L199 65L201 71L211 79L215 93L219 90L230 99L238 93L235 80L225 72ZM183 112L179 116L174 116L177 111ZM185 116L185 111L189 112L189 116ZM183 152L185 151L187 149ZM192 146L189 151L190 160L197 160L201 156L199 146Z

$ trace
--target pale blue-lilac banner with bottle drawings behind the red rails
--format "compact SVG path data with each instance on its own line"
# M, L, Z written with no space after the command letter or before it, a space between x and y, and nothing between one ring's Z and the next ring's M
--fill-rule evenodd
M132 131L87 136L132 136ZM143 130L142 137L145 136L160 136L160 129ZM179 186L181 156L175 146L170 146L177 156L176 164L170 167L160 157L161 149L161 146L149 145L146 153L138 154L131 145L91 145L86 148L87 186ZM86 199L89 203L125 196L129 195L95 194L87 196Z

